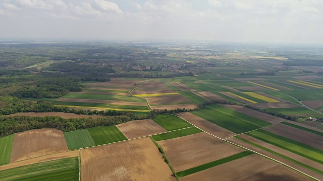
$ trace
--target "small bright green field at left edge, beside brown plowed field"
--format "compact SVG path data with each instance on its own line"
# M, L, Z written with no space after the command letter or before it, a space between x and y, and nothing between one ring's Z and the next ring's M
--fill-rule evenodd
M14 134L0 138L0 165L9 163L14 138Z

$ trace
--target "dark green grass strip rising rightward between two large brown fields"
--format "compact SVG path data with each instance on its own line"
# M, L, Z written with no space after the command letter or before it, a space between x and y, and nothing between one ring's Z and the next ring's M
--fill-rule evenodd
M239 159L239 158L251 155L251 154L253 154L251 151L244 151L244 152L234 154L234 155L231 155L231 156L228 156L228 157L216 160L216 161L212 161L209 163L205 163L205 164L196 166L194 168L189 168L189 169L186 169L183 171L179 171L176 174L178 177L183 177L183 176L193 174L193 173L196 173L196 172L199 172L199 171L202 171L202 170L214 167L214 166L218 166L218 165L221 165L221 164L224 164L224 163L227 163L227 162L230 162L230 161L233 161L233 160L236 160L236 159Z

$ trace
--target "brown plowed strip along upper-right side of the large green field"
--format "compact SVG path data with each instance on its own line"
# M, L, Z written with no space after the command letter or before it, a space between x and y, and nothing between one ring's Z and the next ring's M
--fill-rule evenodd
M279 123L282 121L286 121L286 119L280 118L280 117L276 117L276 116L272 116L269 114L265 114L265 113L261 113L259 111L250 109L250 108L246 108L243 106L237 106L237 105L221 105L223 107L232 109L234 111L238 111L240 113L261 119L263 121L269 122L269 123Z

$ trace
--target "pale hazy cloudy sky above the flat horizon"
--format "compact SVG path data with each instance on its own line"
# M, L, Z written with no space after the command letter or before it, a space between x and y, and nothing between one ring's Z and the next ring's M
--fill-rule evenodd
M1 38L323 43L323 0L0 0Z

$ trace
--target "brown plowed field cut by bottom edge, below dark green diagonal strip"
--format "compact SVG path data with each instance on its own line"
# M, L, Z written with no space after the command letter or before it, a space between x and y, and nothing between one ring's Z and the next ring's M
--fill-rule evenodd
M182 177L180 180L311 180L256 154Z

